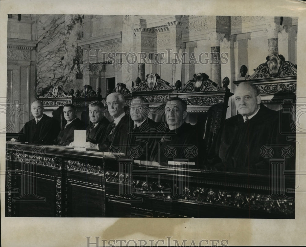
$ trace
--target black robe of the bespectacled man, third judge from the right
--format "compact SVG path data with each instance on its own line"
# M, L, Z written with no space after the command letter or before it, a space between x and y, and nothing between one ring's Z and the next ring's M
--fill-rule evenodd
M133 121L131 122L127 154L139 160L152 160L152 150L156 142L159 123L147 118L139 127L133 130L134 124Z

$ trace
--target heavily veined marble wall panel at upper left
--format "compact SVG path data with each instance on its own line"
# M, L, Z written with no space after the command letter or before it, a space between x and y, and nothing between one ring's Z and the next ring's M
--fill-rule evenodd
M83 38L82 15L37 15L36 95L44 95L52 86L70 89L82 87L82 51L77 41Z

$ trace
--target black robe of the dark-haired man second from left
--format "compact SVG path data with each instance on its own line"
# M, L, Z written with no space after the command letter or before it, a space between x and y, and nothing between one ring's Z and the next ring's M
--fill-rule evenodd
M67 127L63 126L55 140L56 145L67 146L70 142L74 141L74 130L84 129L84 123L79 119L75 118Z

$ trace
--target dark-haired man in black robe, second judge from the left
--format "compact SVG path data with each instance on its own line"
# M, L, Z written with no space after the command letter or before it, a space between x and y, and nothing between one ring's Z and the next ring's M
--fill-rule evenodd
M67 121L61 128L55 140L56 145L67 146L74 141L74 130L84 129L84 123L76 117L76 108L72 104L66 104L63 108L63 115Z

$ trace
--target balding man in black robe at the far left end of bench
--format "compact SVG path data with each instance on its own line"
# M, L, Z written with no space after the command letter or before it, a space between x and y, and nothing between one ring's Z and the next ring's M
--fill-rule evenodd
M20 131L19 141L41 145L53 145L54 137L58 136L60 123L54 118L43 114L43 104L34 101L31 104L31 112L34 119L27 122ZM16 141L16 139L11 139Z

